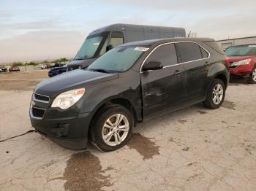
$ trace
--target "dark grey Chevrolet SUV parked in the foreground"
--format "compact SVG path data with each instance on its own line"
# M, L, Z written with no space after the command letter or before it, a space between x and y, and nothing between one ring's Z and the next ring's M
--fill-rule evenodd
M138 122L203 102L217 109L229 71L214 39L122 44L87 69L39 83L30 118L37 132L70 149L87 140L108 152L123 147Z

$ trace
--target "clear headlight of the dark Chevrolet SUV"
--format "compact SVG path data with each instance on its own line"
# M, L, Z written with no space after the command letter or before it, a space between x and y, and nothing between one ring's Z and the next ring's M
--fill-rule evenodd
M70 90L58 95L51 107L59 107L60 109L68 109L70 106L77 103L80 98L82 98L83 94L86 92L84 88L77 90Z

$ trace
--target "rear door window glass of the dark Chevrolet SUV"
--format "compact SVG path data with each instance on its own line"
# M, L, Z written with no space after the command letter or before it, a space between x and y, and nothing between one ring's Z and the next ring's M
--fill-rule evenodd
M179 54L179 63L202 59L200 46L192 42L176 43Z

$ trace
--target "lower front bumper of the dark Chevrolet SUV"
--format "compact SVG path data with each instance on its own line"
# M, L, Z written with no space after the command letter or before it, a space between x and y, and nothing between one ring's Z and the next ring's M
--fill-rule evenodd
M90 113L78 114L75 117L49 116L53 111L45 110L44 117L39 119L30 112L31 125L38 133L68 149L86 149L88 131L91 121ZM46 117L45 117L46 116Z

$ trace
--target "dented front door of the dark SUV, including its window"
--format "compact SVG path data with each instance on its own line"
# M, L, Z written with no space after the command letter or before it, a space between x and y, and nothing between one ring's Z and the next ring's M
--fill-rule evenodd
M184 69L177 65L174 44L157 47L144 64L150 61L159 61L164 68L140 74L144 117L180 105L184 94Z

